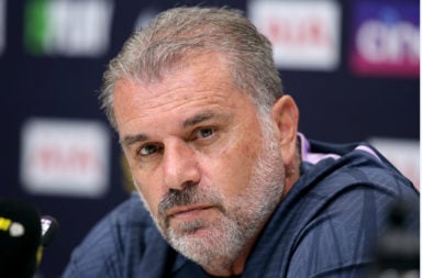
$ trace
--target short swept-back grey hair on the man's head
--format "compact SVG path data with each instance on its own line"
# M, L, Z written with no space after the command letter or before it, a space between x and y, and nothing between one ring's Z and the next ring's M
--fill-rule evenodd
M233 85L254 101L259 114L282 96L270 42L249 20L226 8L175 8L136 31L111 59L100 94L101 109L116 129L113 91L118 80L160 80L166 70L191 55L218 53L231 69Z

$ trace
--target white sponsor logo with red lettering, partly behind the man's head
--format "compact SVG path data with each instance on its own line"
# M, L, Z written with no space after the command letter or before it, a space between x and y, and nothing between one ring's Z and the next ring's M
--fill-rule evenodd
M277 67L333 70L340 64L340 7L334 1L255 0L248 16L273 43Z

